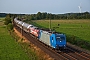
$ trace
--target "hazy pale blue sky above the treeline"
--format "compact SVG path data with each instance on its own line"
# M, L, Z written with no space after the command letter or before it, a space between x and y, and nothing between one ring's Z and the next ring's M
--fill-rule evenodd
M0 0L0 13L53 14L90 12L90 0Z

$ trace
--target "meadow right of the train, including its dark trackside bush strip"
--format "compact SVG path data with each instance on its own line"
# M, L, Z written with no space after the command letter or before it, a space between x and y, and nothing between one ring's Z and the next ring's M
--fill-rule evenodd
M40 28L49 28L49 20L34 20L33 24ZM51 20L51 29L67 36L67 41L82 48L90 46L90 20ZM84 46L85 45L85 46Z

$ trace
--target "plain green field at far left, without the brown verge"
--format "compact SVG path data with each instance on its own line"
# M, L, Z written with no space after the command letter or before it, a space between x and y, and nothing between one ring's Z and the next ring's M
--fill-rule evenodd
M0 60L29 60L21 46L10 36L0 18Z

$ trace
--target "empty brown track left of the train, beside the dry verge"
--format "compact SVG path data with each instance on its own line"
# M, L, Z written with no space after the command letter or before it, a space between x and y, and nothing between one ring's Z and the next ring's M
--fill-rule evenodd
M16 27L16 29L21 32L21 29ZM30 35L28 33L23 32L23 36L25 36L31 43L39 47L41 50L43 50L45 53L47 53L50 57L54 58L54 60L66 60L60 55L57 55L56 52L53 50L50 50L48 47L45 47L45 45L41 42L39 42L36 38L33 37L33 35Z

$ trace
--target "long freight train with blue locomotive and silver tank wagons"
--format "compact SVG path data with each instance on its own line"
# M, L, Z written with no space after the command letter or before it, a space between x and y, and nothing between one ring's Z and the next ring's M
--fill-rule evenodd
M65 34L55 33L53 31L40 29L32 24L20 21L18 18L14 18L14 24L23 31L32 34L34 37L38 38L39 41L46 44L47 46L60 49L66 48L66 36Z

